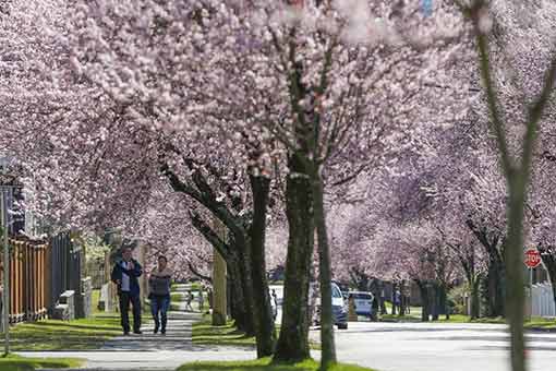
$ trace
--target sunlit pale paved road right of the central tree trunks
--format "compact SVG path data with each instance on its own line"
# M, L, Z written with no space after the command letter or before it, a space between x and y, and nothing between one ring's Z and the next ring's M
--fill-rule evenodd
M380 371L509 370L506 325L359 322L336 336L340 361ZM556 334L528 338L530 370L556 370Z

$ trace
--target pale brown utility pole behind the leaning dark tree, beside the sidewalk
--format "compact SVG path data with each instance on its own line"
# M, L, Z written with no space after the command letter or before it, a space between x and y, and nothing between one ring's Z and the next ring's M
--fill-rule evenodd
M219 220L215 220L215 230L226 240L226 227ZM213 251L213 325L223 326L227 319L226 261L216 249Z

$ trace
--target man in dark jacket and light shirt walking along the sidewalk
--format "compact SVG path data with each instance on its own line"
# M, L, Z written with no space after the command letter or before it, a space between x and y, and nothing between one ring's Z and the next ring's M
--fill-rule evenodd
M118 285L118 296L120 297L120 315L123 334L130 334L130 303L133 307L133 333L141 332L141 299L138 277L143 274L141 264L132 258L132 249L130 247L122 248L122 260L117 262L111 279Z

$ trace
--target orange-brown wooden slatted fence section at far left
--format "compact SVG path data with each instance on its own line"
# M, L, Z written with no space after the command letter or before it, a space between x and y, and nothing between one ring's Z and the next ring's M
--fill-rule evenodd
M47 314L48 244L10 240L10 322L36 321Z

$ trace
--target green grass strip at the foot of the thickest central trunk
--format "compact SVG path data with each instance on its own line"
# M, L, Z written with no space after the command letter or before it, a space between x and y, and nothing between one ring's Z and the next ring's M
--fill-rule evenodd
M239 362L195 362L185 363L177 371L317 371L318 363L306 360L300 363L271 364L269 358ZM372 371L359 366L338 363L330 368L333 371Z

